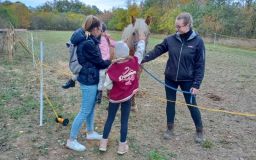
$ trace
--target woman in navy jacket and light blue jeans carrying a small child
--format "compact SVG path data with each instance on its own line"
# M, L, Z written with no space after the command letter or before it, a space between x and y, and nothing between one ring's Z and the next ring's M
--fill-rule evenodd
M88 140L100 140L102 135L94 131L94 108L99 83L99 70L107 68L111 61L103 60L99 49L99 37L102 27L100 20L89 15L82 28L77 29L71 37L71 43L77 45L78 62L82 68L78 73L82 103L79 113L71 126L66 147L75 151L85 151L86 147L77 141L83 122L86 122ZM88 37L86 36L88 34Z

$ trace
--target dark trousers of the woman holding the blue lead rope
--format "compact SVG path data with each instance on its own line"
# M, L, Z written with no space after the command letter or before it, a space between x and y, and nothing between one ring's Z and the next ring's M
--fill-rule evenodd
M165 83L168 86L171 86L175 89L177 89L178 86L180 86L182 91L187 91L187 92L190 92L190 89L193 84L192 81L170 81L168 79L165 79ZM165 87L165 92L166 92L166 99L170 101L176 101L176 93L177 93L176 90ZM183 93L183 96L185 98L186 104L197 105L195 96L192 97L192 103L190 103L191 94ZM170 101L167 101L167 106L166 106L167 125L173 124L174 117L175 117L175 102L170 102ZM201 113L199 109L197 107L192 107L189 105L187 106L196 128L199 128L199 129L203 128Z

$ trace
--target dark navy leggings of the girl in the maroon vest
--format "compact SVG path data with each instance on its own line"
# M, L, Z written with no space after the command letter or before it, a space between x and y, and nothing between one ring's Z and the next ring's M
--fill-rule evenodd
M108 106L108 118L106 120L104 131L103 131L103 138L107 139L112 127L112 124L116 117L116 112L119 109L120 103L111 103L109 102ZM131 110L131 100L122 102L121 103L121 129L120 129L120 142L125 142L128 132L128 120Z

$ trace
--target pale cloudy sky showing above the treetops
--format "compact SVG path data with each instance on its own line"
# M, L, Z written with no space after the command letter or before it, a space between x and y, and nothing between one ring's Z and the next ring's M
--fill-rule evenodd
M2 2L4 0L1 0ZM26 6L31 7L37 7L39 5L44 4L47 2L47 0L9 0L11 2L20 1L24 3ZM51 0L48 0L51 1ZM104 10L111 10L113 7L121 7L125 8L127 5L126 0L80 0L80 2L85 3L86 5L95 5L97 6L101 11Z

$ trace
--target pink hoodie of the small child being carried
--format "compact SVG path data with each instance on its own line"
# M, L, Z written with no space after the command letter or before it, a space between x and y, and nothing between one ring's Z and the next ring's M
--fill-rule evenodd
M102 33L100 39L100 52L103 60L110 59L110 47L115 46L115 41L110 38L110 36L106 33Z

